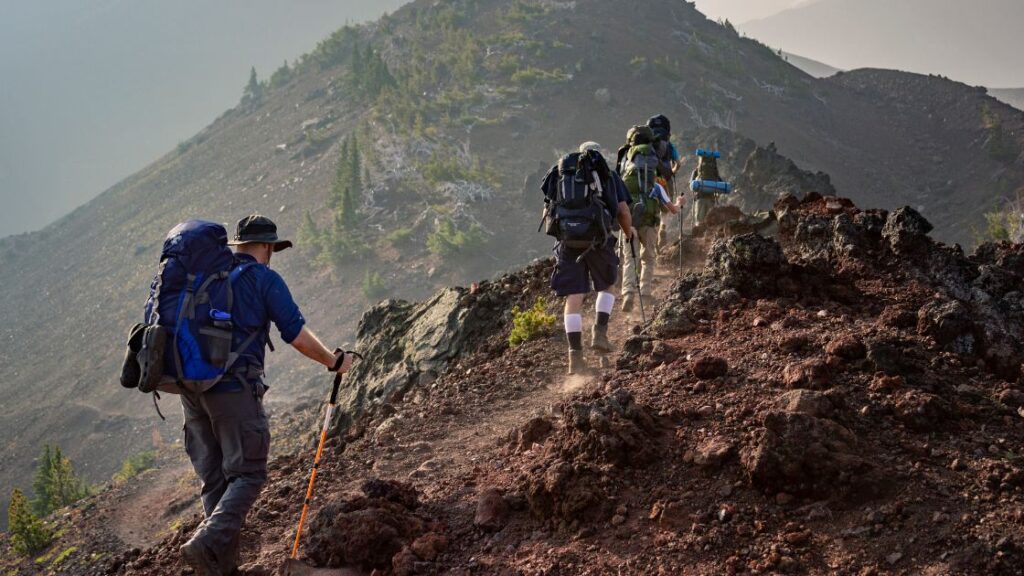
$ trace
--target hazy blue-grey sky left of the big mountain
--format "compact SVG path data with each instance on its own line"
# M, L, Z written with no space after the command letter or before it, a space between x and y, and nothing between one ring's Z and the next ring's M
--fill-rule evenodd
M0 237L187 139L346 19L402 0L0 0Z

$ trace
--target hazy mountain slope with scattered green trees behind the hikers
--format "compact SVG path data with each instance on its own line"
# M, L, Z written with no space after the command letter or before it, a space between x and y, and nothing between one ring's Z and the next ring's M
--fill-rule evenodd
M339 31L262 100L226 112L54 225L0 241L4 495L27 484L43 441L95 480L148 442L150 399L114 382L163 235L185 217L233 222L253 210L289 236L306 211L332 230L346 137L368 159L347 233L355 249L317 257L307 239L274 259L329 342L351 339L374 272L387 294L420 298L547 254L524 176L584 139L612 149L658 112L684 135L725 127L775 142L858 202L924 206L945 239L969 239L982 212L1024 183L1024 114L976 89L884 71L815 80L688 3L645 1L665 17L622 30L606 26L621 16L611 0L420 0ZM668 57L650 53L654 37L669 39ZM753 198L749 209L770 205ZM317 397L319 376L280 351L271 408ZM178 434L171 420L165 436Z

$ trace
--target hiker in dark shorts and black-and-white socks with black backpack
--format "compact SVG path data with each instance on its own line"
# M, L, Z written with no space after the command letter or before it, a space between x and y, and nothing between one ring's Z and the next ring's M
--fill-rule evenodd
M597 292L591 348L599 356L612 352L608 323L615 304L609 289L618 274L615 225L624 239L633 237L626 187L611 171L599 147L585 142L562 157L544 178L545 217L542 223L555 244L551 288L565 298L563 322L568 340L568 373L590 368L583 349L583 301Z

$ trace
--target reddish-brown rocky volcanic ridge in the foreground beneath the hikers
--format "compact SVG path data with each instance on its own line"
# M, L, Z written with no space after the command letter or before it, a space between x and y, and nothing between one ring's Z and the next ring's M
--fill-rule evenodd
M1018 574L1021 245L967 258L912 209L815 194L776 210L777 237L724 236L685 275L663 269L651 326L614 315L623 352L594 376L562 375L561 335L508 346L551 259L369 312L373 366L349 378L384 389L389 363L428 370L368 395L328 443L301 560L325 575ZM446 333L429 311L453 294L474 337L391 356ZM306 450L271 462L249 515L243 574L289 574L306 416L289 433ZM199 515L131 550L104 537L105 503L62 515L61 574L182 570Z

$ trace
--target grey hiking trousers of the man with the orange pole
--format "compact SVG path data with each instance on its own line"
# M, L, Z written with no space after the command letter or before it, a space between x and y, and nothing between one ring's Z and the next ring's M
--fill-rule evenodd
M263 411L263 384L240 392L181 396L185 452L203 482L206 520L193 538L221 566L238 562L242 524L266 483L270 426Z

